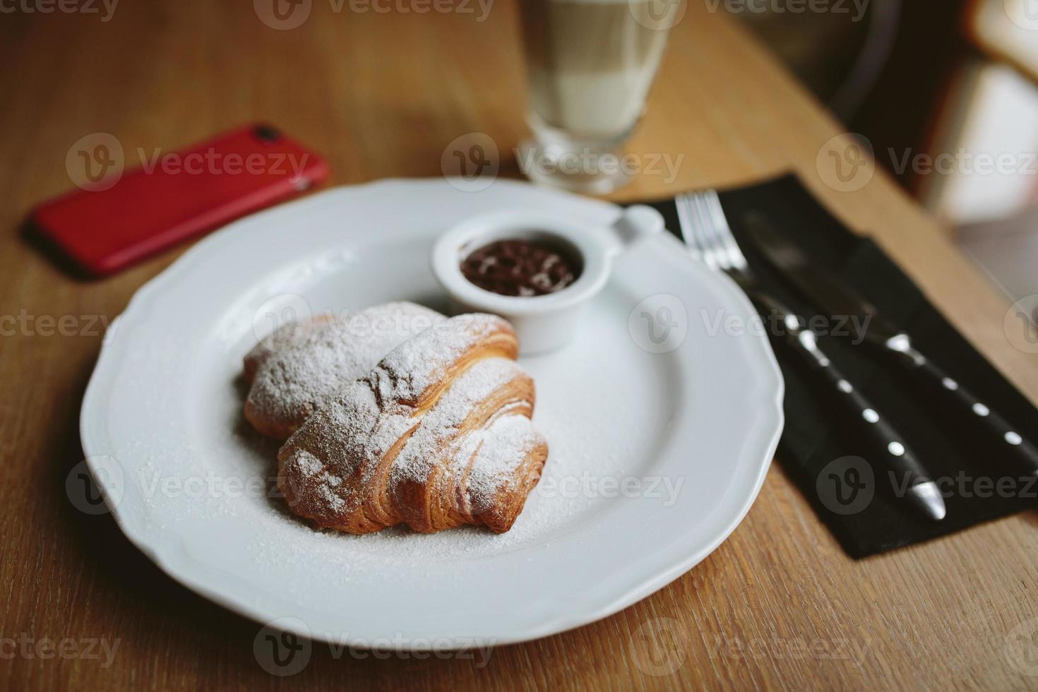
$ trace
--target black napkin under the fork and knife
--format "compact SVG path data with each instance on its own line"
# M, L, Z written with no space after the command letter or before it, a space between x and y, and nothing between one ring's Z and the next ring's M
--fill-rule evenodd
M786 428L777 461L850 556L867 557L1038 506L1038 477L1013 463L1005 443L968 425L932 389L861 343L859 328L840 324L841 319L824 315L801 299L755 252L743 219L750 213L766 217L907 331L917 349L1000 411L1021 435L1038 439L1038 410L969 345L879 246L848 230L793 175L721 191L720 199L762 283L802 316L815 317L819 345L894 422L945 496L948 516L943 521L917 518L907 500L897 495L901 477L892 478L882 460L866 451L853 428L835 415L830 395L802 358L781 339L772 339L786 379ZM680 237L674 201L648 203ZM772 323L765 320L781 331Z

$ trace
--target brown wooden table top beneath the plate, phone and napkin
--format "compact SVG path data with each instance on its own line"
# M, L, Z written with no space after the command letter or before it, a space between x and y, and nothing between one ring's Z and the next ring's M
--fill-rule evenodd
M20 225L30 206L71 186L74 142L104 132L127 151L172 150L268 119L324 153L333 183L353 184L440 175L448 143L480 132L514 171L508 151L524 134L523 82L507 1L482 22L475 4L472 13L418 15L350 4L336 12L339 3L316 1L292 30L269 28L249 5L126 2L103 21L100 3L100 13L28 3L0 15L0 315L38 320L0 324L0 688L1038 688L1025 674L1038 673L1033 515L854 562L777 467L729 541L612 617L500 647L486 665L360 660L315 644L293 677L257 664L255 624L167 578L110 517L77 511L64 481L82 455L80 402L101 348L92 323L118 314L183 248L83 282L27 245ZM1038 400L1036 356L1007 337L1003 298L885 175L836 189L822 147L840 124L705 6L691 3L675 28L630 146L684 155L677 175L644 174L618 197L795 169L851 226L873 231ZM49 319L64 315L74 333L52 333ZM73 643L45 658L47 640ZM105 644L116 647L110 660Z

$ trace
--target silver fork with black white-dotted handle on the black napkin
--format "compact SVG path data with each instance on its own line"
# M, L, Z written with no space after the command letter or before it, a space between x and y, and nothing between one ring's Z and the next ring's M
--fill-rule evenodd
M807 360L822 384L831 389L838 408L856 428L862 441L871 447L871 451L887 468L903 474L907 480L905 497L911 501L912 506L928 519L944 519L947 511L937 483L930 479L926 469L894 425L880 416L876 407L834 365L832 360L818 345L815 333L807 329L803 319L761 286L732 234L717 192L704 190L685 193L675 197L674 201L678 210L681 237L692 256L710 270L723 272L734 279L762 314L781 319L787 338L776 340L798 352ZM777 337L778 334L772 336Z

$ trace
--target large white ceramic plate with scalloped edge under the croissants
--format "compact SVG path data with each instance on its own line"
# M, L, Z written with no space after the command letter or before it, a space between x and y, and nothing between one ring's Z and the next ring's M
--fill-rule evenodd
M782 376L766 339L740 329L754 314L742 294L667 234L618 259L576 342L523 359L550 454L509 533L324 533L268 497L276 444L243 422L238 380L257 334L306 310L439 306L430 249L470 215L618 214L521 183L461 187L386 181L278 206L198 243L133 298L81 434L122 531L171 577L315 639L508 643L645 598L738 525L782 431Z

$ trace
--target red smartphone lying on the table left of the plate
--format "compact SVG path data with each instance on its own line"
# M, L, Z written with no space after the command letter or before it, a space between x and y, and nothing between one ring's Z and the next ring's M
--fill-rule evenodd
M121 158L132 155L113 156L104 140L70 151L70 171L81 159L88 177L77 182L81 189L31 213L33 230L91 276L112 274L328 177L324 159L268 124L182 151L136 155L140 166L120 174ZM101 176L99 166L115 170Z

